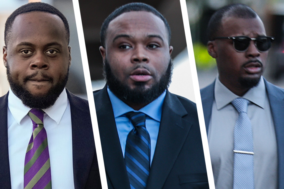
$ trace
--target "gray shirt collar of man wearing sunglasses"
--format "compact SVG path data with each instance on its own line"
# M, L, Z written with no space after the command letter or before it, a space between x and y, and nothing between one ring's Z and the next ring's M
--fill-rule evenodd
M225 87L225 85L220 82L219 78L217 78L215 82L214 96L217 110L222 109L236 98L245 98L258 105L259 107L264 108L265 95L266 90L262 76L257 86L249 89L248 92L246 92L246 94L244 94L242 97L239 97L238 95L231 92L227 87Z

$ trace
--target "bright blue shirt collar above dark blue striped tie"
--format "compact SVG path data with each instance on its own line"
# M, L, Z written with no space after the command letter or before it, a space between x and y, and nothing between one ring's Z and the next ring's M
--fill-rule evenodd
M131 112L131 111L138 112L134 110L132 107L125 104L117 96L115 96L115 94L113 94L113 92L109 89L109 87L107 87L107 92L109 94L109 99L112 102L114 118L123 116L125 113ZM148 105L141 108L139 112L143 112L149 117L151 117L152 119L160 122L161 116L162 116L162 105L163 105L165 96L166 96L166 90L154 101L152 101Z

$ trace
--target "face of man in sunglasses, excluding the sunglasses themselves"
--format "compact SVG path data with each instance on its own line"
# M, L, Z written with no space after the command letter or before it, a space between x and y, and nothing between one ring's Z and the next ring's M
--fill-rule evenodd
M243 19L225 17L218 37L266 36L264 25L259 17ZM243 96L251 87L258 84L264 70L268 51L260 52L250 42L248 49L238 52L229 39L216 39L208 43L208 52L216 58L219 79L228 89Z

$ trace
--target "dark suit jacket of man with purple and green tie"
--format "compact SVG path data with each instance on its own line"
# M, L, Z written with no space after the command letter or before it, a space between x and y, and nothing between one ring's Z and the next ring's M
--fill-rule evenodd
M75 189L101 188L99 166L91 123L89 104L66 90L72 122L73 175ZM0 188L11 188L8 127L8 93L0 98Z

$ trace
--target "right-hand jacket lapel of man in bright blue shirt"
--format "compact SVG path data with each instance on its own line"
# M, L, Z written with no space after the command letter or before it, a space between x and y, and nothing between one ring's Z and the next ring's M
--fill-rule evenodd
M167 91L147 189L164 185L192 125L182 118L184 115L187 112L183 105Z

